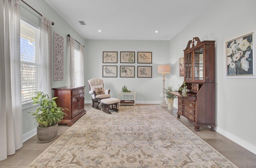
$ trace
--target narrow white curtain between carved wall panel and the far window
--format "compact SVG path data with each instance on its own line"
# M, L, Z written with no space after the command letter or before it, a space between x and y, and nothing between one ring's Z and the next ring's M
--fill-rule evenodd
M67 79L67 86L74 86L75 79L74 79L74 38L68 37L68 60L67 60L67 69L68 69L68 79Z

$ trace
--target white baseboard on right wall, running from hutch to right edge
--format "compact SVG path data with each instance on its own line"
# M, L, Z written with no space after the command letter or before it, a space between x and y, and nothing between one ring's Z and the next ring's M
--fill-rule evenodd
M240 146L246 148L247 150L250 150L252 153L256 154L256 146L253 146L252 144L238 138L237 136L234 136L230 132L227 132L226 130L224 130L218 126L216 126L216 131L219 132L220 134L222 134L223 136L226 136L230 140L236 142Z

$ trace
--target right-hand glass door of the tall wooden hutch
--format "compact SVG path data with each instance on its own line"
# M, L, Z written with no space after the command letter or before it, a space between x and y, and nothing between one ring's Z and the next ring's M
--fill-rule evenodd
M194 80L204 80L204 48L194 51Z

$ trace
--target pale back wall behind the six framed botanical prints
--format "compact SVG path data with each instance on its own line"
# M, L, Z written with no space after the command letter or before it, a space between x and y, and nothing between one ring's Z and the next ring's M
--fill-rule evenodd
M157 65L169 64L170 41L148 40L86 40L85 83L92 78L104 80L105 89L110 89L113 97L118 98L118 92L123 85L135 91L137 103L161 103L162 74L157 73ZM102 63L103 51L118 51L118 63ZM120 51L135 51L135 63L120 63ZM138 51L152 52L152 64L137 63ZM118 65L118 77L102 77L102 65ZM135 66L135 78L120 77L120 65ZM152 78L137 78L137 66L152 66ZM169 85L169 75L166 86ZM86 85L87 91L88 85ZM86 101L91 103L89 93Z

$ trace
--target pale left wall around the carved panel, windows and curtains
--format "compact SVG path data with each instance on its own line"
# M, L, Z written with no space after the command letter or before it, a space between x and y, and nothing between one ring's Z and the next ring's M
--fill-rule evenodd
M66 86L67 80L67 69L66 69L66 60L67 60L67 35L70 34L74 39L78 42L84 44L85 40L72 26L70 26L55 10L53 10L44 0L26 0L30 6L44 15L46 18L54 22L54 26L52 26L52 53L53 53L53 38L54 32L58 33L60 36L64 38L64 80L61 81L53 81L52 80L52 88L54 87L63 87ZM25 19L30 24L34 26L39 26L41 24L40 15L36 14L36 12L32 11L28 6L26 6L23 2L20 2L20 15L21 18ZM85 54L85 51L84 51ZM53 55L52 55L53 56ZM53 57L52 57L52 67L53 67ZM52 71L53 73L53 71ZM53 76L52 76L53 79ZM36 133L36 125L35 121L31 119L32 115L28 112L34 111L35 107L31 107L28 109L24 109L22 111L22 134L23 140L26 140L30 136Z

